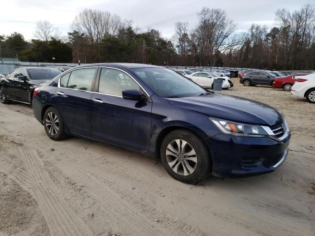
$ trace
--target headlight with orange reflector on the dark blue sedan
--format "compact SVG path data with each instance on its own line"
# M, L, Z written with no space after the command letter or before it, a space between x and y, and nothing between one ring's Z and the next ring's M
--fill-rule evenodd
M209 117L221 131L225 134L231 134L241 137L265 137L268 133L260 125L242 124L234 121Z

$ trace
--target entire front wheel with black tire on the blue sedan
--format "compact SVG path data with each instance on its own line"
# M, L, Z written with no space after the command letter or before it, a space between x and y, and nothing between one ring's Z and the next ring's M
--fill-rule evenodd
M211 174L212 159L208 148L188 130L167 134L160 147L160 157L167 173L181 182L196 184Z

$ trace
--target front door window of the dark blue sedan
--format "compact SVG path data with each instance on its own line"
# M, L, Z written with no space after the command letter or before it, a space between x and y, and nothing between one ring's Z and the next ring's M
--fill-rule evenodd
M127 89L140 91L139 85L126 73L120 70L102 68L99 77L98 92L122 96L123 91Z

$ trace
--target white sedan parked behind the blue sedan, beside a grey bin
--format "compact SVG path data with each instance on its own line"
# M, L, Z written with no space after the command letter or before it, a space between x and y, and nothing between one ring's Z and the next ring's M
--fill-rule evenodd
M222 83L222 89L228 89L233 86L233 83L229 81L228 77L226 76L221 77L213 72L194 72L187 77L204 88L213 88L213 81L215 79L224 80Z

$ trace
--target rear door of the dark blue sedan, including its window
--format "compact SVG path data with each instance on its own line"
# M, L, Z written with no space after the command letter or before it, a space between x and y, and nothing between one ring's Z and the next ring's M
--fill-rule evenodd
M92 137L91 97L98 67L72 70L63 75L56 89L57 109L71 133Z

